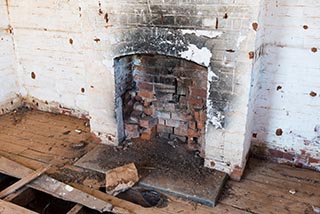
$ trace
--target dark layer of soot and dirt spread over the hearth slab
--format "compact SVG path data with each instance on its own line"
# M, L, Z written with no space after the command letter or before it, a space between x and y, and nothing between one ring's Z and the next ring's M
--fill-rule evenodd
M166 175L172 179L188 177L197 184L215 172L205 168L198 152L188 150L187 144L158 138L106 147L98 155L96 163L100 168L112 169L131 162L135 163L142 178L155 170L159 176Z

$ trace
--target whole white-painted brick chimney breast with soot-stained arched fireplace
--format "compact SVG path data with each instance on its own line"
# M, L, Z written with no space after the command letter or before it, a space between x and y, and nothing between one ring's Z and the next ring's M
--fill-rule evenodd
M201 150L206 167L239 179L252 137L253 64L263 52L259 1L106 0L91 9L96 17L82 17L93 138L115 146L177 139Z

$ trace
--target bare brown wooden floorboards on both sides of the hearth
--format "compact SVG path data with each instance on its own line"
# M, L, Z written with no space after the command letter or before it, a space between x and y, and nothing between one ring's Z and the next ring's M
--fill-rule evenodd
M103 174L73 165L96 146L86 122L39 111L1 116L0 155L33 169L50 163L52 177L98 188ZM317 213L320 173L251 159L244 179L228 181L215 208L169 198L168 213Z

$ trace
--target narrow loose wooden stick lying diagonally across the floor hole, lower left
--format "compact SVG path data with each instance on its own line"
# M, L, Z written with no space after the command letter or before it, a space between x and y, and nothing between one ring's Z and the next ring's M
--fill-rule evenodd
M27 183L33 181L34 179L36 179L37 177L42 175L44 172L46 172L50 167L51 166L48 165L46 167L37 169L36 171L32 172L28 176L22 178L21 180L17 181L16 183L12 184L11 186L9 186L6 189L2 190L0 192L0 198L6 197L7 195L15 192L16 190L18 190L22 186L26 185Z

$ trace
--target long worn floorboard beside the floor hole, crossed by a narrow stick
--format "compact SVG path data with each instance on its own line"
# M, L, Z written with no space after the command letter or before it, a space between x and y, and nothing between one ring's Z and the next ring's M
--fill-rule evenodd
M31 174L33 170L4 157L0 157L0 172L13 177L22 178ZM82 204L91 209L98 210L99 212L111 212L113 209L112 204L97 199L92 195L88 195L83 191L64 184L47 175L41 175L36 180L29 183L28 186L48 193L54 197Z

